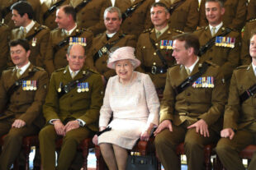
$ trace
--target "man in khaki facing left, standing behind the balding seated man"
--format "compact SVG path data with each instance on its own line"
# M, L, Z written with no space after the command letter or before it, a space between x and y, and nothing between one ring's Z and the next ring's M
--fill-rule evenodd
M51 74L53 71L67 65L66 53L69 47L69 39L81 37L86 39L85 52L92 44L93 34L90 30L78 27L76 24L76 11L72 6L60 7L56 13L56 20L59 28L50 31L50 39L45 53L46 71Z

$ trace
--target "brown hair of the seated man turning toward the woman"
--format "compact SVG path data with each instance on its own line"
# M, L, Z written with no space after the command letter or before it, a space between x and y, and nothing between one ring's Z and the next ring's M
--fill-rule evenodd
M200 43L197 35L192 33L178 34L173 37L173 40L185 41L185 48L194 48L194 54L198 55Z

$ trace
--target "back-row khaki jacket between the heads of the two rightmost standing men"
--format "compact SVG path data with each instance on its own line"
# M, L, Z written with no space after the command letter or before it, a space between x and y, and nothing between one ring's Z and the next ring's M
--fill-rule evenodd
M180 2L176 0L174 2ZM172 5L169 0L160 0L164 2L168 8ZM173 29L183 30L184 32L192 32L197 29L199 21L198 0L186 0L177 7L170 16L170 26Z

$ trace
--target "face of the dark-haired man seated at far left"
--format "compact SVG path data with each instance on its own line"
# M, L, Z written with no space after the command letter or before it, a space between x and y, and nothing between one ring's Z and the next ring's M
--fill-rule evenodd
M19 68L25 66L29 60L28 57L30 56L31 51L28 50L26 52L25 48L21 45L17 45L10 48L12 62Z

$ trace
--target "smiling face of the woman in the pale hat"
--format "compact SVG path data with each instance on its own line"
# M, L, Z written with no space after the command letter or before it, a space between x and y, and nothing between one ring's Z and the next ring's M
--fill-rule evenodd
M119 60L115 63L116 74L121 81L128 82L131 79L133 73L133 66L129 60Z

